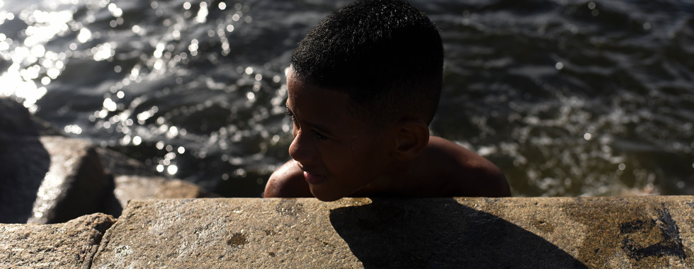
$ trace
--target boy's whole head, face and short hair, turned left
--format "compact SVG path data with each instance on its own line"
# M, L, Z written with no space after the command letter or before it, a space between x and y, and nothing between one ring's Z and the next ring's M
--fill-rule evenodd
M289 153L311 193L345 197L418 156L442 67L437 28L403 1L357 1L311 30L287 76Z

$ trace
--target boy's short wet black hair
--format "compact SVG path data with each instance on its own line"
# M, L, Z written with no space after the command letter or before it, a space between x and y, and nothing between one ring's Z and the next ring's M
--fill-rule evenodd
M443 44L411 4L360 0L310 30L291 65L302 82L348 93L374 123L414 115L428 124L440 98Z

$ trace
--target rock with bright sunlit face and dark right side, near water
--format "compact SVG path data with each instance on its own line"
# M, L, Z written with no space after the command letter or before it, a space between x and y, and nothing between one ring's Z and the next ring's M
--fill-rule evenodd
M40 137L40 141L50 154L50 168L28 223L67 222L99 212L110 189L93 145L65 137Z

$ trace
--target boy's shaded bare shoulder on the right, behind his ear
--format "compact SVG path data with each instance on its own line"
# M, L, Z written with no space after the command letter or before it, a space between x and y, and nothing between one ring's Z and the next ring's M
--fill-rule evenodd
M451 181L456 195L476 197L511 196L501 169L470 149L441 137L430 137L427 147L431 160L438 162Z

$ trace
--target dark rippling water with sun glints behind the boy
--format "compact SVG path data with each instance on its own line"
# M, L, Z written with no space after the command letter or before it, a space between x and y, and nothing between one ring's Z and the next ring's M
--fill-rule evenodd
M289 159L284 70L346 1L0 0L0 95L225 196ZM694 194L692 1L431 1L434 134L514 195Z

